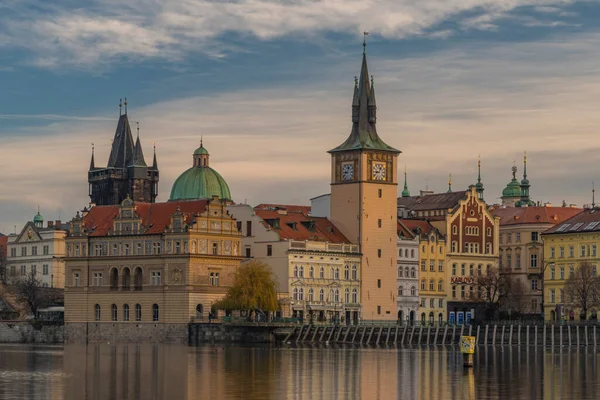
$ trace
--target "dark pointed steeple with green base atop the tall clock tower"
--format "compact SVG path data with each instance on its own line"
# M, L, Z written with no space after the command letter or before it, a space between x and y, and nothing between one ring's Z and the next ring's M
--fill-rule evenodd
M377 102L375 100L375 89L373 88L374 79L369 76L366 46L366 41L364 41L360 75L358 76L358 80L355 78L354 81L352 131L346 141L330 150L330 153L348 150L382 150L396 154L400 153L399 150L388 146L377 134L375 126L377 121Z

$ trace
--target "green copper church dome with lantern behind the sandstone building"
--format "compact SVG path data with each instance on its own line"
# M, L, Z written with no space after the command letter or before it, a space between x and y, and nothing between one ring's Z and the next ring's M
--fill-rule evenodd
M209 153L201 144L194 152L194 165L173 183L170 201L211 199L219 196L231 200L229 185L225 179L208 165Z

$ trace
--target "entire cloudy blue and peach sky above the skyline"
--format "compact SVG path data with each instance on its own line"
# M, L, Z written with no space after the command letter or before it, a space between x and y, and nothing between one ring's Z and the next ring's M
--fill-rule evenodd
M0 232L71 219L108 161L119 98L156 143L159 201L204 138L236 202L309 204L350 133L368 31L378 132L413 194L499 202L528 155L533 200L600 183L600 1L2 0ZM520 177L519 177L520 178ZM402 185L400 185L402 186ZM401 190L401 187L400 187Z

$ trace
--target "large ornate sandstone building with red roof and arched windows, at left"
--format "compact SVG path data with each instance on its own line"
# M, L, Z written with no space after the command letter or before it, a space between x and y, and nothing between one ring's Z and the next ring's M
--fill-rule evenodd
M241 235L218 198L95 206L66 239L67 342L187 343L233 283Z

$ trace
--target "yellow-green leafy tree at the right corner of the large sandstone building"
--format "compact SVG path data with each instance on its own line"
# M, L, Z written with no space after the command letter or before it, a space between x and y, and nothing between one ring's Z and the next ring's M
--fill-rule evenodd
M233 285L225 297L213 307L227 311L277 311L277 281L271 267L258 261L242 264L235 273Z

